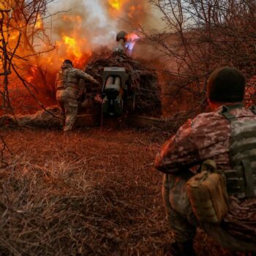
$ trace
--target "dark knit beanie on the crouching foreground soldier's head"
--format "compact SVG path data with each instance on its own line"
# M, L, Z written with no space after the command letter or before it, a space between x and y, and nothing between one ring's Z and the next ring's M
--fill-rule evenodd
M234 67L222 67L211 73L207 97L214 102L241 102L244 99L245 78Z

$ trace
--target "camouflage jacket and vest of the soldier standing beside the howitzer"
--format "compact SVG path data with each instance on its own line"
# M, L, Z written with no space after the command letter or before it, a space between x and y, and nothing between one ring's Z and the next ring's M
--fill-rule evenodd
M85 83L83 80L89 80L91 83L97 83L91 75L80 69L75 69L70 64L63 64L56 77L56 91L64 91L67 97L77 98L81 91L84 91Z

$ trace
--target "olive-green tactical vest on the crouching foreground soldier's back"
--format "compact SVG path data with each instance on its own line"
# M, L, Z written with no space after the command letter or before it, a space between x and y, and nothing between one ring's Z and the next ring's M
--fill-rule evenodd
M238 198L256 196L256 120L239 120L230 110L241 105L223 106L220 114L230 121L230 165L224 170L227 193ZM256 108L249 108L256 115Z

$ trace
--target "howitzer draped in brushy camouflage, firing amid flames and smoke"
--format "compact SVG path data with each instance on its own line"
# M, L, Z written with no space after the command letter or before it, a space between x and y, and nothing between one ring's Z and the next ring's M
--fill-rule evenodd
M98 78L102 76L98 79L102 84L99 89L101 92L97 92L100 97L97 95L89 101L90 90L86 91L86 99L82 103L82 106L85 106L83 115L78 115L80 124L86 122L89 124L86 118L97 116L100 117L101 124L112 125L115 122L125 121L139 127L165 126L166 122L162 118L140 116L140 113L144 115L154 113L155 116L155 111L160 112L157 77L138 61L127 56L127 39L128 34L125 31L118 32L116 35L118 44L113 48L113 53L107 55L108 59L97 57L86 67L86 72L90 75ZM144 100L145 104L143 104ZM86 105L86 102L90 104ZM99 102L101 105L98 104ZM85 115L85 110L89 114Z

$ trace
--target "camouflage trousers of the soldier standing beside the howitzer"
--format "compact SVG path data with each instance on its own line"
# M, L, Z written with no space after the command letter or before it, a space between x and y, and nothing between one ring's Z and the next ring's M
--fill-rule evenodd
M75 120L78 115L78 100L58 94L56 98L61 107L64 132L70 131L75 126Z

